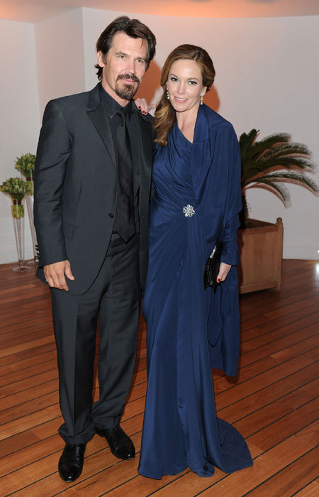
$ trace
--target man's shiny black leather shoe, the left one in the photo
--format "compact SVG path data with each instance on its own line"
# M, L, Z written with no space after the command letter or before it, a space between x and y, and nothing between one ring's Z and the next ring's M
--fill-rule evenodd
M79 478L83 469L85 447L86 444L65 444L57 466L63 481L71 483Z

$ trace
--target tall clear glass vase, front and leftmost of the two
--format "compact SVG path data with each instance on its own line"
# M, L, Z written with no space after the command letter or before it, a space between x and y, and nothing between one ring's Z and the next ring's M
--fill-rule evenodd
M13 268L12 271L24 273L31 269L24 261L24 196L10 195L10 202L14 236L16 237L16 250L18 252L18 266Z

